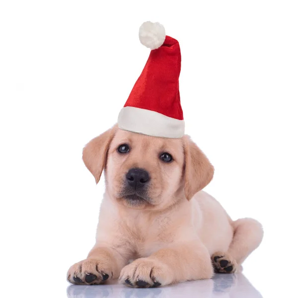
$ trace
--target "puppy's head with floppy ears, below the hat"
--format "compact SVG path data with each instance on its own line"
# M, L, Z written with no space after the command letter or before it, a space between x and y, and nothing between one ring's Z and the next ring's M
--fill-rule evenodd
M214 168L184 136L150 137L114 126L83 149L83 161L98 183L105 169L107 192L123 206L163 209L204 188Z

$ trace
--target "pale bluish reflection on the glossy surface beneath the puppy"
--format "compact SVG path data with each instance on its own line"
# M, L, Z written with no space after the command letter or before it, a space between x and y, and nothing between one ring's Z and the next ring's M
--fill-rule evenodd
M118 284L101 286L69 286L68 298L262 298L242 273L216 274L213 279L192 281L153 289L132 289Z

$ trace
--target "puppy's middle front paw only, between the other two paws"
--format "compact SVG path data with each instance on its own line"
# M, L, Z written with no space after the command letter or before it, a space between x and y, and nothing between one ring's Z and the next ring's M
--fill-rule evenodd
M150 258L140 258L125 266L119 281L135 288L154 288L171 284L173 273L165 264Z

